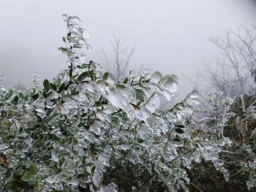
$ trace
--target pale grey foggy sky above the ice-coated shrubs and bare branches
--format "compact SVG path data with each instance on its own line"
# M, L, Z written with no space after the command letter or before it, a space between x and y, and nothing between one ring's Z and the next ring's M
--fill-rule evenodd
M0 0L0 71L6 85L31 85L33 74L54 78L66 68L58 51L66 26L62 14L78 15L90 33L90 59L108 54L114 34L136 50L131 68L145 66L176 74L179 90L192 89L186 77L211 61L215 47L207 40L228 28L255 24L252 0ZM110 55L111 58L111 55Z

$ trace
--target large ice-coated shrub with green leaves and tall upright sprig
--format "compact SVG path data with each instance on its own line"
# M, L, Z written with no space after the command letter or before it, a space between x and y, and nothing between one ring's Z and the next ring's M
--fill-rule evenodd
M79 18L63 18L68 34L59 50L69 68L41 87L1 89L0 190L187 191L188 170L202 159L228 180L218 159L228 139L194 128L195 92L168 107L174 75L130 74L116 83L87 61ZM132 186L115 171L131 174Z

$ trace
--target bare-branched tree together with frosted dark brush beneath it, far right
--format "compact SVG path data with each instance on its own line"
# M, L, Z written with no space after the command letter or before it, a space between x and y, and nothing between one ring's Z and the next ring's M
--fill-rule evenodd
M226 38L214 38L212 42L221 50L222 58L214 62L214 68L198 74L195 82L200 90L201 109L194 117L198 127L209 130L211 139L230 138L220 158L230 171L225 182L210 162L194 165L190 170L190 190L198 191L255 191L255 30L226 31ZM198 83L200 82L200 83ZM205 82L205 83L204 83Z

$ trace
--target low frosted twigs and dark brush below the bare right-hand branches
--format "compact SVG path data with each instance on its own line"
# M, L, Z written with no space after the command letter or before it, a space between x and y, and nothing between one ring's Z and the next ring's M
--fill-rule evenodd
M197 113L197 126L209 130L212 139L228 137L231 146L220 154L226 169L230 170L230 181L225 182L209 162L194 165L190 178L202 190L207 191L254 191L255 182L255 99L254 90L232 99L215 92Z

